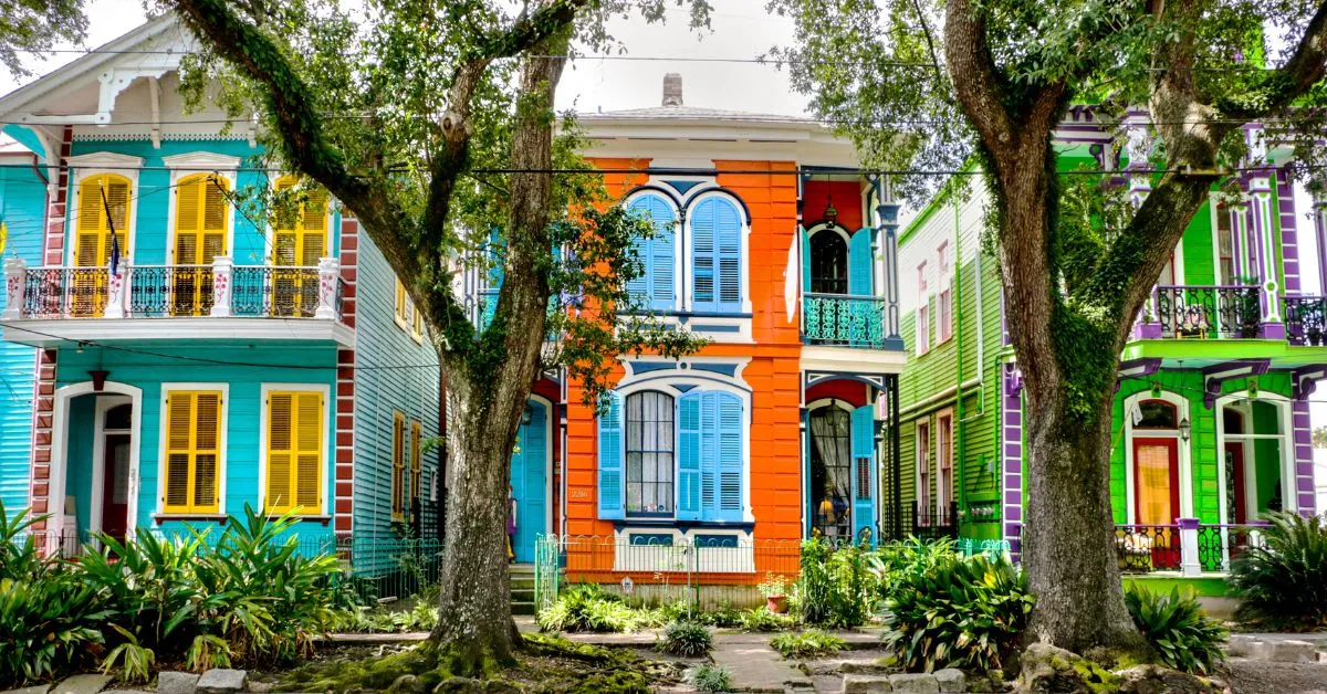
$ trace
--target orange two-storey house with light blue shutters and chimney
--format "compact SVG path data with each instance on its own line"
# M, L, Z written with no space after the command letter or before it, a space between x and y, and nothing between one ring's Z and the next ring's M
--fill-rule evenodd
M579 383L536 385L522 441L553 445L514 459L518 536L559 536L568 580L755 584L795 573L808 536L893 535L885 422L904 350L886 182L813 121L683 106L677 76L661 106L581 126L610 192L658 230L629 289L709 344L621 357L604 417Z

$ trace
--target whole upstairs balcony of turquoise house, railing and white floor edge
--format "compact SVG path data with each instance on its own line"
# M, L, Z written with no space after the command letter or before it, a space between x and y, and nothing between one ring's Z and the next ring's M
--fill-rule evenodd
M54 346L88 340L287 338L353 345L336 259L316 267L28 267L5 261L5 340Z

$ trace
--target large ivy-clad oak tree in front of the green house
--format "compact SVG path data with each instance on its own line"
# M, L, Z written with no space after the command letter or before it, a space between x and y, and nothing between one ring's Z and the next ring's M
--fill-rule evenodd
M1320 162L1323 111L1315 107L1327 96L1327 3L770 5L798 28L796 44L775 57L868 161L889 169L981 165L1027 398L1023 563L1038 598L1031 634L1078 652L1141 649L1123 602L1109 500L1120 350L1213 187L1263 163L1250 155L1243 125L1270 123L1265 133L1295 149L1300 174ZM1067 210L1083 211L1082 186L1066 186L1056 173L1055 129L1075 102L1107 115L1127 106L1151 114L1139 134L1152 145L1140 147L1153 153L1143 163L1154 171L1143 174L1152 191L1137 208L1112 210L1107 216L1120 223L1097 234L1070 219ZM901 186L934 188L934 178Z

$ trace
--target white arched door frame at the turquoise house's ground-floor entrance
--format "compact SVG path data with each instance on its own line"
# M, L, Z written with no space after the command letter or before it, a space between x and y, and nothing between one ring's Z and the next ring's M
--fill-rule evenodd
M78 395L127 395L130 403L133 405L133 414L130 418L130 450L129 450L129 516L127 524L134 527L138 519L138 466L139 455L142 452L142 421L143 421L143 391L139 387L131 386L129 383L119 383L115 381L106 381L102 383L102 389L97 390L92 381L84 381L80 383L70 383L68 386L56 390L56 402L53 407L53 422L50 427L50 490L46 502L46 512L50 515L50 525L54 533L46 535L46 547L49 551L58 549L58 540L64 536L66 520L65 516L65 496L68 496L68 471L69 471L69 401ZM98 397L98 399L101 399ZM101 418L97 418L101 422ZM94 430L96 434L97 430ZM97 446L100 438L94 437L93 446ZM93 451L96 452L96 451ZM96 475L97 466L93 466L93 474ZM97 502L96 511L92 518L97 519L97 525L101 525L101 500ZM89 506L89 511L93 507ZM92 528L92 520L89 519L89 529ZM77 523L77 518L74 519Z

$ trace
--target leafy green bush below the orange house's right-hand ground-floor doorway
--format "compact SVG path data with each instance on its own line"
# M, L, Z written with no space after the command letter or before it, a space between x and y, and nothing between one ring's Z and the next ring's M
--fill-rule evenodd
M877 579L871 551L815 537L802 544L802 571L794 584L792 604L807 624L860 626L877 604Z

